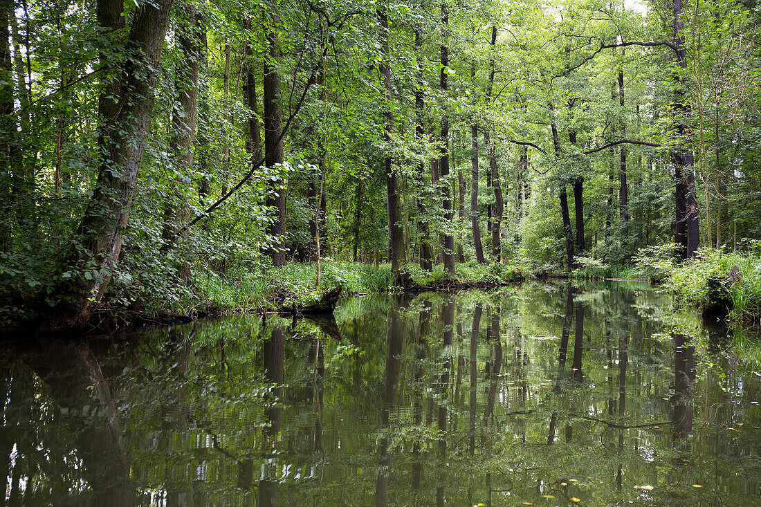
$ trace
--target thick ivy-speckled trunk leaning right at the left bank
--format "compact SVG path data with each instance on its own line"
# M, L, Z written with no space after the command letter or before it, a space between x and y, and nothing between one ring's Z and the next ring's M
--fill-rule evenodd
M105 2L105 3L104 3ZM113 12L122 2L102 0L98 11ZM122 234L127 225L132 187L138 177L145 140L151 124L153 94L169 24L172 0L156 0L135 11L126 45L142 48L139 56L122 65L123 86L111 97L113 83L103 89L100 111L106 122L101 129L103 160L88 208L75 233L74 244L62 264L56 311L49 312L43 329L83 327L103 297L119 262ZM100 14L98 16L100 20ZM119 104L119 107L116 107ZM92 266L82 269L82 266ZM71 275L74 276L71 276ZM64 275L70 276L63 278Z

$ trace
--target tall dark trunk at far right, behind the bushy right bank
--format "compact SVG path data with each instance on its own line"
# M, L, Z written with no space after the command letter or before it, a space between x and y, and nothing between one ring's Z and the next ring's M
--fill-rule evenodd
M673 0L673 32L674 46L676 46L677 65L682 71L687 69L687 55L685 50L684 24L682 22L682 0ZM686 118L689 116L689 105L685 99L684 78L680 74L674 76L677 87L674 90L673 109L675 116ZM677 120L677 134L680 138L686 135L686 126ZM674 228L674 243L681 245L681 256L685 259L695 257L700 241L700 229L698 223L698 203L695 197L695 173L693 171L695 159L693 151L687 147L677 147L671 154L671 163L674 166L674 176L677 181L674 188L674 201L676 202L677 223Z

